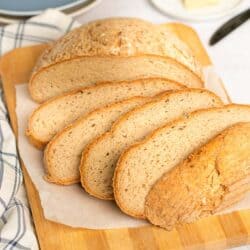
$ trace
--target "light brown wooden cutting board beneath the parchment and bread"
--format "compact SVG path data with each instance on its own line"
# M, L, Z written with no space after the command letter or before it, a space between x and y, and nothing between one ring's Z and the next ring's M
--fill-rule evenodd
M211 61L197 34L182 24L167 24L193 50L204 66ZM37 57L46 45L16 49L0 61L0 70L11 124L17 134L15 84L27 82ZM38 193L22 164L25 186L36 233L43 250L155 250L225 249L250 242L250 211L212 216L167 232L147 226L131 229L88 230L48 221L44 218Z

